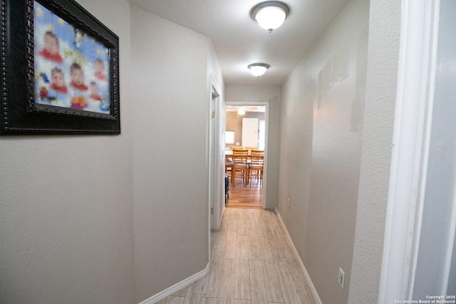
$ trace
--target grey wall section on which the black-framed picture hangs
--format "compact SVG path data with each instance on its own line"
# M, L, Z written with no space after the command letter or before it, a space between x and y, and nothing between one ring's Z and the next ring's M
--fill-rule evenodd
M135 303L130 6L78 2L120 37L122 135L0 138L0 303Z

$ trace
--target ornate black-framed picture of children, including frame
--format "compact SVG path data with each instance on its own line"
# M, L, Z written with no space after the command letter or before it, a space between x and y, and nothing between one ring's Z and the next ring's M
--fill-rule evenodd
M0 1L0 135L120 134L118 36L73 0Z

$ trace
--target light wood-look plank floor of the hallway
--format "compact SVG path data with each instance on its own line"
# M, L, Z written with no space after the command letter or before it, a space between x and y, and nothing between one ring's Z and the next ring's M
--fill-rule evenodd
M316 303L274 211L225 209L207 276L160 304Z

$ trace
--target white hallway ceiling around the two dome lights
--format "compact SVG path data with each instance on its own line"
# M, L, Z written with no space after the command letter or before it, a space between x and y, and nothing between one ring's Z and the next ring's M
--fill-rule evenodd
M226 85L281 85L349 0L284 0L290 14L269 33L250 17L261 0L129 0L130 4L208 36ZM250 63L271 65L259 78Z

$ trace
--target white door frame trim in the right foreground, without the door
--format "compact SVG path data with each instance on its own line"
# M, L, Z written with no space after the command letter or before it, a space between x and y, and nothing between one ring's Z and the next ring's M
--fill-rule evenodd
M430 148L439 6L439 0L402 1L379 304L413 295Z

